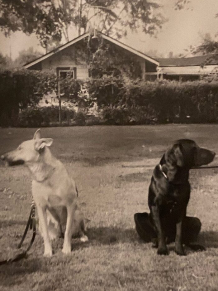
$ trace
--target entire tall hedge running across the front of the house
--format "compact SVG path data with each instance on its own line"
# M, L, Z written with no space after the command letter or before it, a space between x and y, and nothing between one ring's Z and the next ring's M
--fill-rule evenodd
M149 82L131 80L126 75L102 75L101 78L82 81L73 80L70 76L71 74L61 81L61 94L78 108L89 109L97 103L101 123L218 122L217 82ZM20 110L19 120L22 120L22 126L34 126L31 120L36 120L39 112L42 113L42 109L36 110L36 104L44 94L57 91L56 87L54 72L0 72L0 125L18 125ZM51 125L55 122L53 113L56 111L46 108L43 110L46 120L43 119L42 123ZM64 119L68 123L67 120L72 120L73 113L69 115L67 112L63 114L67 114ZM83 114L85 112L87 110L83 110Z

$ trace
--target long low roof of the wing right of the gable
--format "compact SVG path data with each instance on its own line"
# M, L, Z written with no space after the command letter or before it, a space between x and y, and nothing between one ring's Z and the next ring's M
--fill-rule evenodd
M168 58L157 59L159 67L183 67L183 66L200 66L204 63L208 65L217 65L218 60L212 58L213 55L206 56L192 56L189 58Z

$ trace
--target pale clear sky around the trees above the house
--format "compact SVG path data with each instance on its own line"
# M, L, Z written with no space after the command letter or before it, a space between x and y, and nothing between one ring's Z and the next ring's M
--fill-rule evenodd
M190 45L197 45L201 41L202 34L210 33L214 36L218 32L218 0L191 0L193 10L182 9L175 11L173 6L176 0L160 0L163 7L160 12L168 19L156 37L145 35L143 32L128 32L121 41L135 49L147 52L157 50L164 57L168 57L170 51L174 55L185 53ZM70 39L77 35L70 34ZM35 35L26 36L22 32L12 33L5 37L0 32L0 52L3 55L10 54L12 59L18 56L18 52L33 46L34 49L45 53Z

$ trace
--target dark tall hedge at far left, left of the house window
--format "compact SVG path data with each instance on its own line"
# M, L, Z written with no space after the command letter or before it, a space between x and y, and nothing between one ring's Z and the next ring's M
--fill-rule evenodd
M53 72L1 70L0 125L16 125L19 109L38 104L44 94L56 89L56 84Z

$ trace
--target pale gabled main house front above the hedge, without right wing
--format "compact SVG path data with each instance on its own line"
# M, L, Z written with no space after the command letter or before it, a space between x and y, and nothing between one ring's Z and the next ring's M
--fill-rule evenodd
M140 64L142 71L142 78L145 79L146 72L156 71L159 61L152 57L145 55L144 53L135 50L134 48L125 45L121 41L118 41L102 32L97 33L106 42L113 44L117 49L126 51L131 57ZM86 62L77 57L75 54L84 46L84 40L90 37L89 32L84 33L81 36L74 38L66 44L59 46L57 49L48 52L47 54L40 56L34 61L31 61L24 65L26 69L31 70L49 70L55 69L57 74L64 76L70 68L73 68L74 78L86 79L89 77L88 65Z

